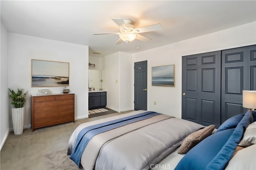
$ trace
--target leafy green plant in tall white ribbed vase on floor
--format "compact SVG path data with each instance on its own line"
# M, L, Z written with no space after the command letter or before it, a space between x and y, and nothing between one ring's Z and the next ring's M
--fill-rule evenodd
M10 98L12 99L11 104L15 107L12 108L12 124L15 135L20 135L23 133L24 127L24 117L25 117L25 107L26 95L28 91L23 93L24 89L17 88L17 93L14 90L10 90ZM23 94L22 94L23 93Z

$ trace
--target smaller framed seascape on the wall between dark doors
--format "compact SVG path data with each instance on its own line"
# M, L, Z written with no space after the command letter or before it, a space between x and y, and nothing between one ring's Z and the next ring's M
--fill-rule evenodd
M152 67L152 86L174 87L174 65Z

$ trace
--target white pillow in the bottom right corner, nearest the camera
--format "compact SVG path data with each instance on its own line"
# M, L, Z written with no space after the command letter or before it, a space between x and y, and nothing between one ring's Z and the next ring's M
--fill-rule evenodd
M256 170L256 145L238 150L229 160L225 170Z

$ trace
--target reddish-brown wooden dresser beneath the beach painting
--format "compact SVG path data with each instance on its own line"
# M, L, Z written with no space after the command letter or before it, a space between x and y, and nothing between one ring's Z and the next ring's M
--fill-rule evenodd
M75 94L31 95L31 127L75 122Z

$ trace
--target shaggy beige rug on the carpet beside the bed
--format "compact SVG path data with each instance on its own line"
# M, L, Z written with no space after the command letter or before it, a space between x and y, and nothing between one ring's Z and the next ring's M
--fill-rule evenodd
M75 162L69 158L66 149L46 154L44 160L46 170L80 170Z

